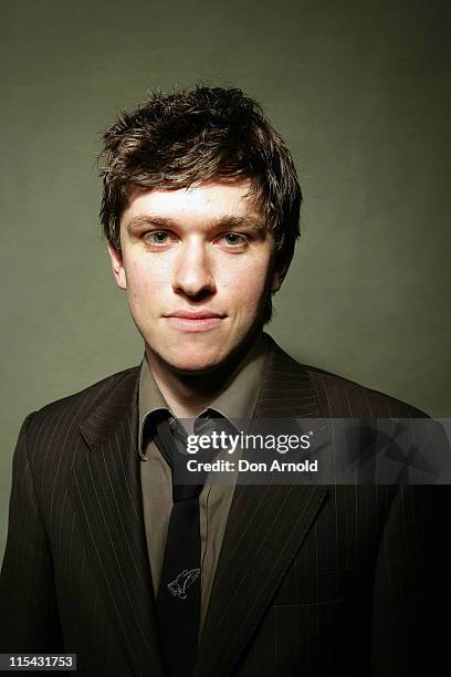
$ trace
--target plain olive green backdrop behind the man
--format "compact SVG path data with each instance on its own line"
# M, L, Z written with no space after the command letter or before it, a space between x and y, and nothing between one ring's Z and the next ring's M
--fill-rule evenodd
M303 236L274 337L451 416L449 2L10 0L1 22L0 553L21 420L141 357L95 155L151 87L238 85L293 149Z

